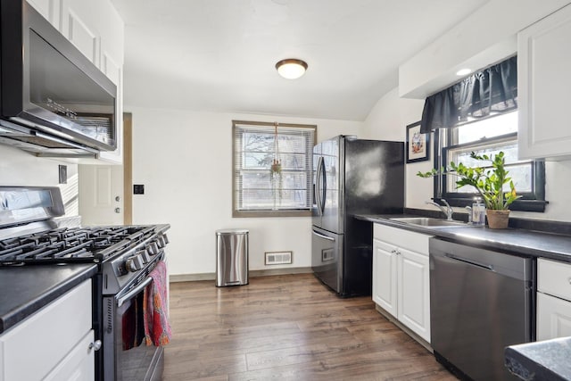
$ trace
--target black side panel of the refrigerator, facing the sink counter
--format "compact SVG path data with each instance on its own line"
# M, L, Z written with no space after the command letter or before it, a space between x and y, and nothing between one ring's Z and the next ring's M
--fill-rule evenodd
M372 292L373 224L355 214L401 213L404 206L404 145L345 139L343 292Z

